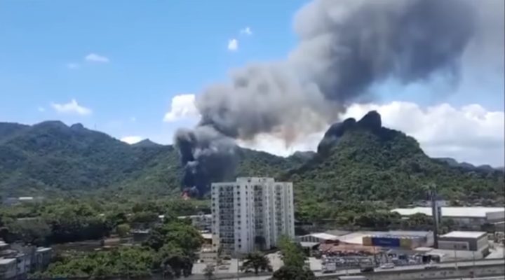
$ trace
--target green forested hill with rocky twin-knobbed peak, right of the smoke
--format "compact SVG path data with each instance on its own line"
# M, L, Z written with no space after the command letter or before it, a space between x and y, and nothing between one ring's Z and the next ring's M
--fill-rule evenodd
M382 127L378 113L344 120L325 134L318 154L284 179L292 180L304 201L386 200L404 204L426 199L434 183L447 200L504 195L503 172L462 169L424 154L402 132Z

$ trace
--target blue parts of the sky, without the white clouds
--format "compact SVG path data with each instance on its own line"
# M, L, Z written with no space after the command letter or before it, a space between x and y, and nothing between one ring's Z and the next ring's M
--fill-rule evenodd
M169 143L177 127L194 123L163 122L173 97L198 94L248 62L285 58L296 44L292 17L304 3L3 0L0 121L62 120L117 138ZM241 33L245 27L252 34ZM235 51L227 48L232 38ZM374 102L480 104L502 112L502 72L482 69L465 69L457 87L436 79L409 87L383 83L374 88ZM65 111L72 99L80 114Z

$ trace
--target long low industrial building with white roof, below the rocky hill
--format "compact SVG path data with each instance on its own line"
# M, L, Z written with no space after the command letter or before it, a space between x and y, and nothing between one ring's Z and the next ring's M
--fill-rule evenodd
M431 207L398 208L391 210L408 218L414 214L432 216ZM469 228L505 221L504 207L441 207L442 218L450 218L455 223Z

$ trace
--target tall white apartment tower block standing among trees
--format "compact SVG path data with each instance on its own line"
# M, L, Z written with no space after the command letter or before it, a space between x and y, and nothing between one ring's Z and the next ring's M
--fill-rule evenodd
M292 183L246 177L212 184L213 247L228 255L277 245L295 237Z

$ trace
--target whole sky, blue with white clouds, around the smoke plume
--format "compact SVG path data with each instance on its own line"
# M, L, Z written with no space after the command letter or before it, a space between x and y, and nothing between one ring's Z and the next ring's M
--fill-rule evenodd
M0 121L62 120L128 143L171 144L177 128L198 122L194 101L203 88L227 80L231 69L289 55L297 44L293 16L305 3L2 0ZM503 37L487 40L503 50ZM457 81L388 80L342 118L375 109L428 155L503 166L503 53L479 50L483 62L464 56ZM323 132L291 146L269 135L239 144L289 155L314 150Z

